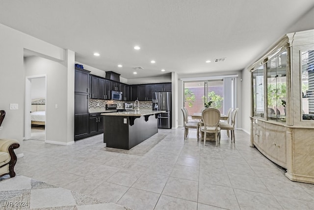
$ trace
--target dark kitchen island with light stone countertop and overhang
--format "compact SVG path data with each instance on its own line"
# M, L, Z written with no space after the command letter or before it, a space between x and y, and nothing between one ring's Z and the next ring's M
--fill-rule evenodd
M140 110L103 113L104 143L109 148L130 150L158 133L158 114L165 111Z

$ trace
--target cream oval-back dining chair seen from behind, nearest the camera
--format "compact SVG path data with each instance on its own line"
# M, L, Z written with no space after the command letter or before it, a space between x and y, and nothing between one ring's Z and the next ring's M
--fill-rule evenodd
M219 125L220 120L220 112L218 109L208 108L204 109L202 112L202 121L204 126L201 127L201 131L204 132L204 146L206 144L206 134L207 133L214 133L215 134L215 141L216 146L219 144L219 134L220 134L220 127Z

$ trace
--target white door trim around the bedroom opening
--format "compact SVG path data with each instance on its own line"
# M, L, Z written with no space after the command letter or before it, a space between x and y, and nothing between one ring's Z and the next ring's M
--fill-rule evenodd
M25 137L24 139L31 138L31 80L35 78L45 78L45 88L46 88L46 119L45 119L45 141L46 141L46 131L47 131L47 74L26 76L25 78Z

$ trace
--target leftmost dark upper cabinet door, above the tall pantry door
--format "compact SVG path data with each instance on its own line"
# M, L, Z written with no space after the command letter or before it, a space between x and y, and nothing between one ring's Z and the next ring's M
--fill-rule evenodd
M88 75L90 71L75 68L75 85L74 85L74 91L75 92L83 92L88 93L89 87L88 87Z

